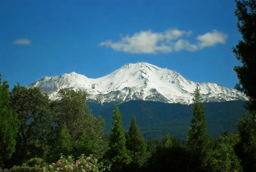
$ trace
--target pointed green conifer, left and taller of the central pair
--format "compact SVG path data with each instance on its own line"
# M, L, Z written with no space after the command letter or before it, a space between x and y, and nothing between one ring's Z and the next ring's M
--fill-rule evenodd
M122 126L122 115L119 112L119 108L116 105L116 109L113 110L114 115L112 116L114 122L111 127L111 133L109 136L109 147L108 159L112 162L111 171L120 171L125 168L131 162L131 157L127 154L125 146L126 139L123 134L124 127Z

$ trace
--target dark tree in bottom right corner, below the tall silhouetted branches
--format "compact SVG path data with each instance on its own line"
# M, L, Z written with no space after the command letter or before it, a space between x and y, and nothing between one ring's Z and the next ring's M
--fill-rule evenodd
M245 112L238 121L239 143L237 154L242 160L244 172L256 171L256 113Z

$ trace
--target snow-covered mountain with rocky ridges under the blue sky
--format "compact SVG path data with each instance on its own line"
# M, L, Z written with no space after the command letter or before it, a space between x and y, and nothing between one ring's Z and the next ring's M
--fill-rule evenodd
M162 69L148 63L126 64L113 73L98 79L87 78L72 72L56 77L43 77L28 87L38 86L48 92L51 99L57 99L57 91L68 87L83 89L88 100L98 103L129 100L151 100L167 103L192 103L193 91L200 87L203 101L247 100L234 89L218 83L196 83L181 74Z

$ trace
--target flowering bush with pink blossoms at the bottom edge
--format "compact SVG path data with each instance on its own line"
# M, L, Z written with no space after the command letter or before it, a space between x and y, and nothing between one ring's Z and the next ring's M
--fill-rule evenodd
M72 171L72 172L87 172L87 171L105 171L105 169L110 170L110 166L104 167L103 163L98 163L98 160L90 155L85 157L82 154L79 159L74 161L71 156L65 157L61 156L56 163L52 163L43 167L43 172L59 172L59 171Z

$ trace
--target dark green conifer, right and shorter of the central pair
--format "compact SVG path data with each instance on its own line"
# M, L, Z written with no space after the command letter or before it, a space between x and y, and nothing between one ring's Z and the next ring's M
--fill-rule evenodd
M125 138L126 148L133 160L133 163L142 167L150 154L146 150L147 145L144 141L143 135L140 134L134 115L132 115L131 124L129 125L128 131L125 133Z

